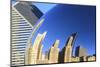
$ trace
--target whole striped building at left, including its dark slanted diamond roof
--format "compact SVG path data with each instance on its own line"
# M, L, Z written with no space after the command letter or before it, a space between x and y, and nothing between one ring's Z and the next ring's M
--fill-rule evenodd
M25 64L25 49L28 38L37 20L42 16L34 13L37 11L32 9L31 4L26 2L17 2L12 6L12 52L11 52L11 65L24 65ZM32 11L33 10L33 11ZM37 16L38 15L38 16Z

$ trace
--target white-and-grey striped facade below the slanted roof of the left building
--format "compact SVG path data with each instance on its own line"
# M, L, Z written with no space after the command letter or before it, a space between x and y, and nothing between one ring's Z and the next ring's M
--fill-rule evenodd
M16 8L12 7L11 25L11 64L12 66L24 65L25 48L32 26L22 17Z

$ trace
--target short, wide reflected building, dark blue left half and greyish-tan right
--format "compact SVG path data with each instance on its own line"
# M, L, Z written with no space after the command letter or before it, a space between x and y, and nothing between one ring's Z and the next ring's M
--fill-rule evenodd
M75 56L77 57L87 56L86 49L81 46L77 46L75 50Z

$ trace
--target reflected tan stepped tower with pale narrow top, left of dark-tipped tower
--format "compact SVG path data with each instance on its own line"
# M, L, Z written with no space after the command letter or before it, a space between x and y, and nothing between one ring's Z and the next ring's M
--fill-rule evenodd
M59 56L58 44L59 40L56 40L49 51L49 63L58 63L58 56Z

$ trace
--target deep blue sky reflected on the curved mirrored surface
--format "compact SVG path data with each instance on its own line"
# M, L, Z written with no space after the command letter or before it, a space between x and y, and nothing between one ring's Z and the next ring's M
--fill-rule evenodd
M43 3L44 4L44 3ZM51 4L50 4L51 5ZM41 4L42 8L43 5ZM39 5L39 7L41 8ZM63 48L70 34L78 32L75 47L81 45L87 49L88 54L95 53L95 7L57 5L44 16L45 21L36 32L47 31L43 41L43 52L47 51L56 39L60 40L59 48ZM42 9L41 9L42 10ZM45 8L46 10L46 8ZM43 11L45 11L43 9ZM34 42L33 38L33 42Z

